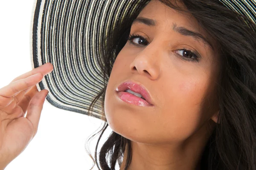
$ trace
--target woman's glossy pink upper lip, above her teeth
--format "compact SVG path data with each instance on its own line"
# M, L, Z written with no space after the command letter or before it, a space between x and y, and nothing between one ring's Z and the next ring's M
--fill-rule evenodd
M133 92L139 93L140 95L143 96L143 98L145 98L145 100L149 104L153 105L153 102L148 90L142 84L135 83L133 81L125 81L116 88L116 92L124 92L125 90L128 90L128 89L130 89Z

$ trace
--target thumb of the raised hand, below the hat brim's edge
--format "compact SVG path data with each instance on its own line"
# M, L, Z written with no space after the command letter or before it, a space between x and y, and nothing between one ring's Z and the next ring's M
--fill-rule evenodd
M45 98L48 94L48 90L44 89L41 90L40 92L36 93L35 96L31 99L28 107L28 112L26 115L26 118L31 121L31 123L34 126L34 136L37 133L38 130L38 124L39 124L39 119L41 116L41 112L43 109L43 104L45 101ZM34 137L33 136L33 137Z

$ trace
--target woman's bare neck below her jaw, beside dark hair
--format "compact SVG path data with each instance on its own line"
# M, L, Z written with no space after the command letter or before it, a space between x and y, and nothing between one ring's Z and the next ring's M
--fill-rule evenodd
M204 126L183 142L168 144L143 144L131 141L132 158L128 170L200 170L201 155L212 130ZM199 132L198 131L198 132ZM210 134L209 134L210 133ZM120 170L125 170L127 147Z

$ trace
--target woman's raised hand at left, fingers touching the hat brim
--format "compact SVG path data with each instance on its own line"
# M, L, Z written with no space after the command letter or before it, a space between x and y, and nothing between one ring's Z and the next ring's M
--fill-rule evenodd
M52 70L52 64L46 63L0 89L0 170L23 152L37 133L48 90L38 92L35 85Z

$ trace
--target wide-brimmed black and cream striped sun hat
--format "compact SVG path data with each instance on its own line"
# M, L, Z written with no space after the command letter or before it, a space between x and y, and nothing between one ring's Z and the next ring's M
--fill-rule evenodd
M47 89L55 107L88 115L104 87L99 44L124 17L150 0L35 0L31 24L32 69L52 63L54 69L37 84ZM220 0L256 23L255 0ZM100 98L103 100L103 98ZM102 117L100 100L93 117Z

